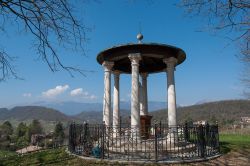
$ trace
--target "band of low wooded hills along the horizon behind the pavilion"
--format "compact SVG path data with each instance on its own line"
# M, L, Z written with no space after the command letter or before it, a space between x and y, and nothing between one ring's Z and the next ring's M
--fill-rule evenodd
M130 116L129 109L121 109L122 122L127 122ZM159 109L151 111L153 120L167 120L167 110ZM209 120L218 121L220 124L232 124L239 121L240 117L250 117L250 100L226 100L203 103L177 108L177 118L179 123L186 120ZM0 108L0 121L27 121L39 119L48 122L69 122L87 121L89 123L101 123L102 111L90 110L83 111L76 115L66 115L58 110L41 106L19 106L12 109Z

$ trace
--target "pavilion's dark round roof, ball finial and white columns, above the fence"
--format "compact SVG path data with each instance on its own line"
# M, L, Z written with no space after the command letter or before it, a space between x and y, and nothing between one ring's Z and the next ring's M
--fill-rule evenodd
M120 117L119 76L131 74L131 130L140 136L140 121L144 119L147 124L150 124L151 119L148 115L147 77L152 73L166 72L167 74L168 125L177 125L174 71L175 67L186 59L186 54L182 49L174 46L142 43L142 34L138 34L137 39L136 44L119 45L100 52L97 61L104 68L103 121L105 125L111 126L111 75L114 75L113 128L116 128ZM139 76L141 76L141 83Z

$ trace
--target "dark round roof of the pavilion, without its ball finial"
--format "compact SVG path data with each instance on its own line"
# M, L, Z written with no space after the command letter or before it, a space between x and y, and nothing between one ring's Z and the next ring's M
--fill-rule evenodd
M131 73L131 62L128 55L134 53L141 54L140 73L155 73L165 70L166 64L163 62L165 58L175 57L176 65L186 59L186 53L180 48L157 43L138 43L108 48L97 55L97 61L99 64L104 61L114 62L113 71Z

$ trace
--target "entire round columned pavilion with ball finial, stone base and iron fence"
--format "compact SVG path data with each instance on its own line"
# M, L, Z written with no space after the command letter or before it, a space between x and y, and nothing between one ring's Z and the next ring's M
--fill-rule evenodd
M192 162L218 157L218 125L179 124L176 121L174 71L185 58L177 47L142 43L115 46L100 52L97 61L104 68L102 124L69 126L68 150L77 156L116 162ZM148 114L147 77L166 72L168 124L151 125ZM111 122L111 76L114 75L113 120ZM119 76L131 74L131 123L119 123ZM141 81L140 81L141 77ZM166 112L167 113L167 112Z

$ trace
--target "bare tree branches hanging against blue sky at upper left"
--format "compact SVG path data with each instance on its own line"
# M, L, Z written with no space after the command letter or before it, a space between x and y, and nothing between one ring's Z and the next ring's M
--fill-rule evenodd
M45 61L51 71L65 69L71 75L73 71L84 74L83 70L65 66L62 63L57 46L64 49L84 51L86 28L74 15L73 2L67 0L0 0L0 32L4 33L7 22L18 24L34 37L34 46L39 57ZM80 3L80 2L79 2ZM21 31L19 30L19 31ZM14 46L13 46L14 47ZM0 80L9 76L17 78L12 66L13 58L0 51Z

